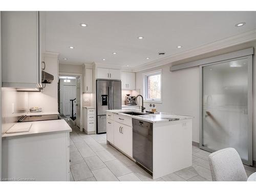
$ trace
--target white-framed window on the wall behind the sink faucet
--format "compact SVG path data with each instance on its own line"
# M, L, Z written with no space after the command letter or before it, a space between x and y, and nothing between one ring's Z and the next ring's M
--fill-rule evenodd
M162 72L154 71L144 74L144 98L145 101L161 102Z

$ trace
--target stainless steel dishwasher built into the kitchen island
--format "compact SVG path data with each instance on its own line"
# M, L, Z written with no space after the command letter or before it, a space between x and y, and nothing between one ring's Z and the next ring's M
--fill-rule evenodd
M153 123L132 119L133 158L153 173Z

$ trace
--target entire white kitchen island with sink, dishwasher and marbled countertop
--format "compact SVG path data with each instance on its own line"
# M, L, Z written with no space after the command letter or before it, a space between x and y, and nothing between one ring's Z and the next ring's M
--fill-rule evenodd
M192 117L107 110L106 138L153 179L192 165Z

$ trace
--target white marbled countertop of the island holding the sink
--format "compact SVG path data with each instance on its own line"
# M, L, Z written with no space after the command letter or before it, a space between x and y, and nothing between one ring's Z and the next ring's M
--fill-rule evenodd
M179 120L184 120L184 119L192 119L193 117L191 116L181 116L181 115L172 115L169 113L163 113L160 112L160 114L146 114L146 115L129 115L129 114L124 114L122 112L141 112L141 110L106 110L107 112L111 112L111 113L115 113L115 114L119 114L119 115L125 115L125 116L129 116L131 118L134 119L139 119L142 121L148 121L148 122L152 122L152 123L157 123L157 122L168 122L170 121L170 119L174 119L174 118L178 118Z

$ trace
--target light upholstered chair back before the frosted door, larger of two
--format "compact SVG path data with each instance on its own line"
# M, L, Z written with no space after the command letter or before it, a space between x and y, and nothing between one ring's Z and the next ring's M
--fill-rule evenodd
M238 152L224 148L209 155L212 181L247 181L247 175Z

